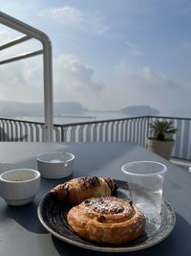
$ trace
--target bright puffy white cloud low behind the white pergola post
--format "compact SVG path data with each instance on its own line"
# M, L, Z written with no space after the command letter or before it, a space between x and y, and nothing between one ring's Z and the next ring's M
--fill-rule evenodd
M0 100L43 102L42 65L42 57L2 65ZM93 67L73 55L54 58L54 101L76 101L91 107L97 103L104 88L104 84L95 81L94 77Z

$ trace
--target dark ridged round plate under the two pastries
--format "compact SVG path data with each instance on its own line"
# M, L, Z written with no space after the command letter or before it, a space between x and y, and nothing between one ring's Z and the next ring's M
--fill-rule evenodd
M127 182L121 180L116 180L116 182L118 185L116 196L118 198L129 198ZM53 198L51 193L48 193L44 196L38 206L38 218L42 225L58 239L69 244L97 251L135 251L153 246L154 244L159 244L159 242L163 241L171 233L176 223L174 210L170 204L162 198L161 222L157 231L154 230L153 225L147 221L144 234L133 243L116 246L100 245L87 242L74 233L69 227L66 219L69 209L69 205L61 204Z

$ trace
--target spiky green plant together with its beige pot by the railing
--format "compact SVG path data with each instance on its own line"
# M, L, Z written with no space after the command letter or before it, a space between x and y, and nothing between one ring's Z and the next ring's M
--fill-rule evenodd
M149 124L151 136L147 139L147 149L169 159L174 147L173 135L177 132L172 122L155 121Z

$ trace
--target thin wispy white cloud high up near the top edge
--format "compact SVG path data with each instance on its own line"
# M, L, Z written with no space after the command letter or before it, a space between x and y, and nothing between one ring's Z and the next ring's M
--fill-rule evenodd
M63 6L44 10L39 15L49 17L66 27L96 35L104 35L109 30L105 16L100 12L82 12L72 6Z

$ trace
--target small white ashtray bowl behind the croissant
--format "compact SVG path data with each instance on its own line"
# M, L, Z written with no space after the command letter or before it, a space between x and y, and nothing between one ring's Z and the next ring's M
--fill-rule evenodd
M43 177L61 178L73 174L74 154L69 152L45 152L37 155L38 171Z

